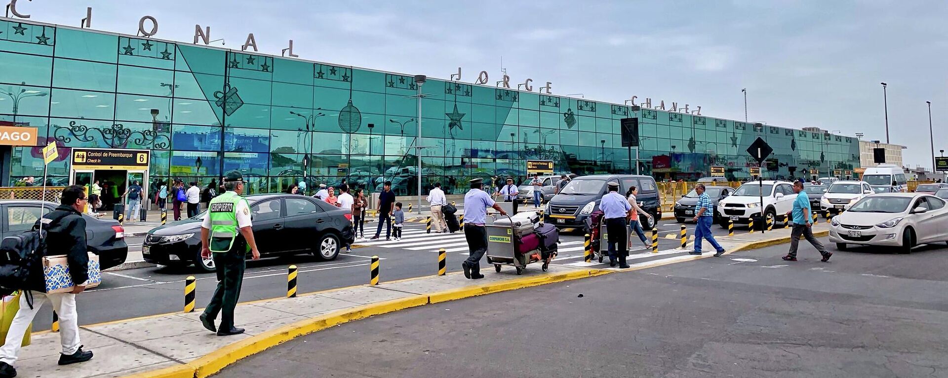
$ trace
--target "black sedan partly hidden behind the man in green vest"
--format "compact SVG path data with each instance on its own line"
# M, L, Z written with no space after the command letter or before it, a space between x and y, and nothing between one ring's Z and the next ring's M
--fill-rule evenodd
M340 247L355 238L352 223L345 217L348 211L318 199L296 194L255 194L246 199L262 257L313 254L324 261L335 260ZM149 231L141 247L145 261L194 264L213 271L214 261L201 258L201 223L206 214Z

